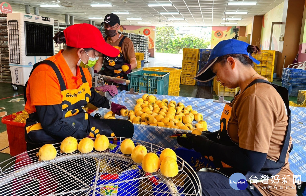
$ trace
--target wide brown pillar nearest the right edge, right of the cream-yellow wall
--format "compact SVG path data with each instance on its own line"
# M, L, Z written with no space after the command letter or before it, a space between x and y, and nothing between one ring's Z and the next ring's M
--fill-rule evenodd
M288 65L293 63L293 60L299 51L304 4L305 0L285 0L282 29L279 35L284 35L284 41L279 42L276 65L276 74L278 77L282 76L284 56L286 56L284 65L286 68Z

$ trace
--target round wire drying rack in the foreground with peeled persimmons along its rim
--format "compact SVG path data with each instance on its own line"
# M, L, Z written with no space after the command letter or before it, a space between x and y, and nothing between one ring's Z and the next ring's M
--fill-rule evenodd
M160 170L146 173L130 155L121 153L120 143L124 139L110 140L109 148L103 152L61 153L59 143L54 144L57 156L50 161L40 161L36 156L38 149L3 161L0 163L0 195L201 195L200 180L183 159L177 157L179 173L172 178L162 176ZM163 150L155 144L132 140L135 146L143 145L148 152L159 155Z

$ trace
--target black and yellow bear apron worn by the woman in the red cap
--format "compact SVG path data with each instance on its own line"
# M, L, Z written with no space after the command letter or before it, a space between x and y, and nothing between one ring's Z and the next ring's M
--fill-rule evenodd
M83 82L80 87L77 89L67 89L58 67L52 61L44 60L40 61L39 63L36 63L33 66L30 76L33 70L40 64L49 65L54 70L58 78L62 96L63 116L61 120L69 125L72 125L77 130L84 130L84 132L91 137L97 137L102 133L107 137L110 137L110 134L113 131L111 131L111 129L106 124L104 124L103 121L88 115L88 113L85 111L84 106L88 104L91 98L91 91L84 75L83 69L80 68L80 73L82 75ZM35 115L37 114L30 114L29 118L26 121L26 142L28 144L32 144L32 146L42 146L46 143L52 144L62 142L60 139L56 139L52 135L44 131L40 122L31 120L31 116ZM103 130L99 130L101 128L103 128Z

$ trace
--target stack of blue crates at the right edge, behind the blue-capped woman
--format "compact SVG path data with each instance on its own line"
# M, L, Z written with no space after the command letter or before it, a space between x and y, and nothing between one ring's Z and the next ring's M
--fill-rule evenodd
M282 86L288 89L289 96L297 97L299 90L306 90L306 70L283 68Z

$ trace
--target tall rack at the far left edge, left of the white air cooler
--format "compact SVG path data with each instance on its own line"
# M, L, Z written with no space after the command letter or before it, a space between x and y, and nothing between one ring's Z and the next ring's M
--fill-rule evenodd
M6 14L0 14L0 82L12 82L9 69L9 46Z

